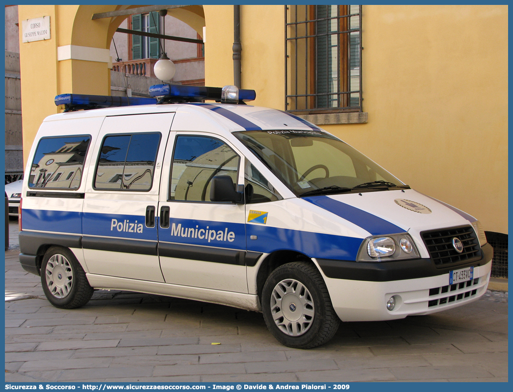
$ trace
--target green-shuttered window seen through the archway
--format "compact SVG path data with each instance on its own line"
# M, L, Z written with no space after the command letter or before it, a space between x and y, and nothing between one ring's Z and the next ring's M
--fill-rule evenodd
M131 22L132 30L159 34L160 19L158 12L132 15ZM132 60L159 58L160 54L159 38L132 35Z

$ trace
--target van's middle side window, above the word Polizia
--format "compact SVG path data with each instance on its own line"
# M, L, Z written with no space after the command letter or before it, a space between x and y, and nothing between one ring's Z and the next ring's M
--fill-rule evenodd
M95 189L151 189L160 133L106 136L94 178Z

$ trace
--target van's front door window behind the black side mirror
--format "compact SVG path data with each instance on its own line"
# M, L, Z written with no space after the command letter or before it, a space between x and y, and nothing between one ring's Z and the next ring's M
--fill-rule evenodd
M174 147L169 200L210 201L210 183L216 175L237 182L240 157L218 139L178 136Z

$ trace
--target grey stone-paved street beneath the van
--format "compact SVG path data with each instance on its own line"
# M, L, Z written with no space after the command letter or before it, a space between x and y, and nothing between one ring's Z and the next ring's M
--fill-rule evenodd
M508 381L507 293L343 323L328 344L299 350L275 341L260 313L228 306L98 290L57 309L18 252L14 242L5 252L6 382Z

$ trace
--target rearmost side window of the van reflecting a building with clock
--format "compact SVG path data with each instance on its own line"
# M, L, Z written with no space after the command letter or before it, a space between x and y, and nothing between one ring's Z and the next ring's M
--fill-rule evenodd
M78 189L90 136L43 138L37 144L30 171L30 188Z

